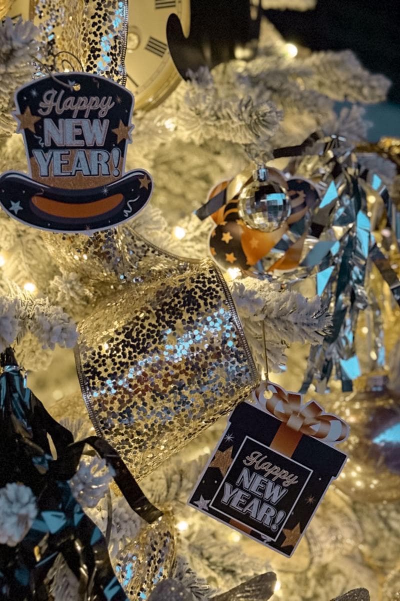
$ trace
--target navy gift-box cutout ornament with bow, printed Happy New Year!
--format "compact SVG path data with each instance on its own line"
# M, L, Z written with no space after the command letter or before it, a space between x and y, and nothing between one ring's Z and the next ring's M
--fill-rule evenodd
M314 401L262 383L240 403L189 504L291 557L346 456L348 426Z

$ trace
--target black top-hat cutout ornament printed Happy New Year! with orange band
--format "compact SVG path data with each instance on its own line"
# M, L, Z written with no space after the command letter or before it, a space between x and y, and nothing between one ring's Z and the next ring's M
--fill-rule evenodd
M0 205L41 230L92 233L137 215L153 182L144 169L124 174L134 97L110 79L59 73L16 92L29 175L0 177Z

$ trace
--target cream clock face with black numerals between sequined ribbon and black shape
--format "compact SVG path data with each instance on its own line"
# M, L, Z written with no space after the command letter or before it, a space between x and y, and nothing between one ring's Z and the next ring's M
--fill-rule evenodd
M190 31L190 0L130 0L127 39L127 88L135 109L156 106L181 78L167 44L167 20L175 13L185 35Z

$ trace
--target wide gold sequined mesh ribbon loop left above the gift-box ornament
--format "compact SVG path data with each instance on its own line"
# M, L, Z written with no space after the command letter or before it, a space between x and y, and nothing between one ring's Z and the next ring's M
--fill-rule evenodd
M258 383L226 282L210 260L125 285L79 331L77 370L89 415L137 478Z

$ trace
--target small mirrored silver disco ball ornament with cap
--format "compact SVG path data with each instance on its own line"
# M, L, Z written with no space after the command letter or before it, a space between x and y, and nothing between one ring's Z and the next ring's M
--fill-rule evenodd
M239 216L253 230L278 230L291 213L287 192L278 183L268 179L268 169L258 168L239 196Z

